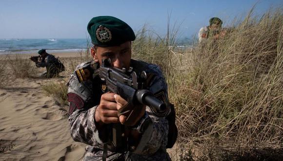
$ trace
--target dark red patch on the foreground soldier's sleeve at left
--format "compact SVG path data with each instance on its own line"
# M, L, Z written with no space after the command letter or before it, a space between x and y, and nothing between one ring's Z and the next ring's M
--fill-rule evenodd
M84 101L82 100L82 98L80 96L78 96L75 93L68 93L68 101L70 103L70 107L69 107L69 114L72 114L73 111L78 108L81 109L84 106Z

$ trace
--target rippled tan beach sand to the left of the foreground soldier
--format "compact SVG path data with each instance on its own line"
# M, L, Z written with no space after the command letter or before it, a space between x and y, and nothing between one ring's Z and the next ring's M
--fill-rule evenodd
M77 57L78 53L52 53L56 57ZM15 56L15 55L11 55ZM36 54L21 54L28 59ZM6 55L0 55L4 59ZM66 65L68 66L68 65ZM40 70L44 70L43 68ZM68 80L66 72L61 78ZM67 106L60 106L44 94L47 80L16 79L0 88L0 160L1 161L80 161L86 144L70 136ZM175 151L175 150L171 150Z

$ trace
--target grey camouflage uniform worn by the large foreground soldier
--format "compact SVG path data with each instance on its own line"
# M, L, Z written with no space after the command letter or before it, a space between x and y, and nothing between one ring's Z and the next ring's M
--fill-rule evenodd
M93 61L81 63L77 69L92 65ZM160 114L151 107L146 106L146 116L150 118L150 124L143 132L140 143L131 151L123 153L107 152L107 161L170 161L166 152L168 121L165 117L170 113L167 84L163 78L160 67L142 61L131 60L134 71L139 73L142 70L153 74L148 89L167 105L166 112ZM76 69L76 70L77 70ZM67 85L69 109L69 123L71 136L75 141L88 144L84 155L85 161L101 161L103 154L103 143L101 137L103 130L96 128L95 110L99 105L101 86L99 76L93 80L79 82L76 75L72 74Z

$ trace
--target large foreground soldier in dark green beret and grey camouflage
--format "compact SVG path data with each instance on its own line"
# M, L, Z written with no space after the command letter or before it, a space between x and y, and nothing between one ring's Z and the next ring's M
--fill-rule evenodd
M132 41L135 34L122 20L111 16L91 19L87 25L93 46L93 60L81 63L68 81L69 123L74 141L88 144L85 161L169 161L166 148L171 148L177 139L175 110L168 101L167 84L161 68L140 60L131 59ZM118 94L105 91L103 80L96 74L103 59L110 59L116 68L132 68L148 76L147 89L157 99L166 104L164 111L156 111L150 106L132 104L141 112L127 122L131 113L118 110L128 105ZM91 70L93 70L91 72ZM125 125L125 150L107 142L109 126L113 123ZM113 131L112 131L113 132ZM119 137L119 136L118 136ZM106 142L105 142L106 140Z

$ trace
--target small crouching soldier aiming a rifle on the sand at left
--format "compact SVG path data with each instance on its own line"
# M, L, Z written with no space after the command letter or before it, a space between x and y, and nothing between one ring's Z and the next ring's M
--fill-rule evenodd
M36 63L37 67L46 67L46 71L42 72L40 77L56 77L61 71L65 70L65 67L61 61L55 58L53 55L46 53L45 49L39 50L38 54L40 57L31 57L30 59Z

